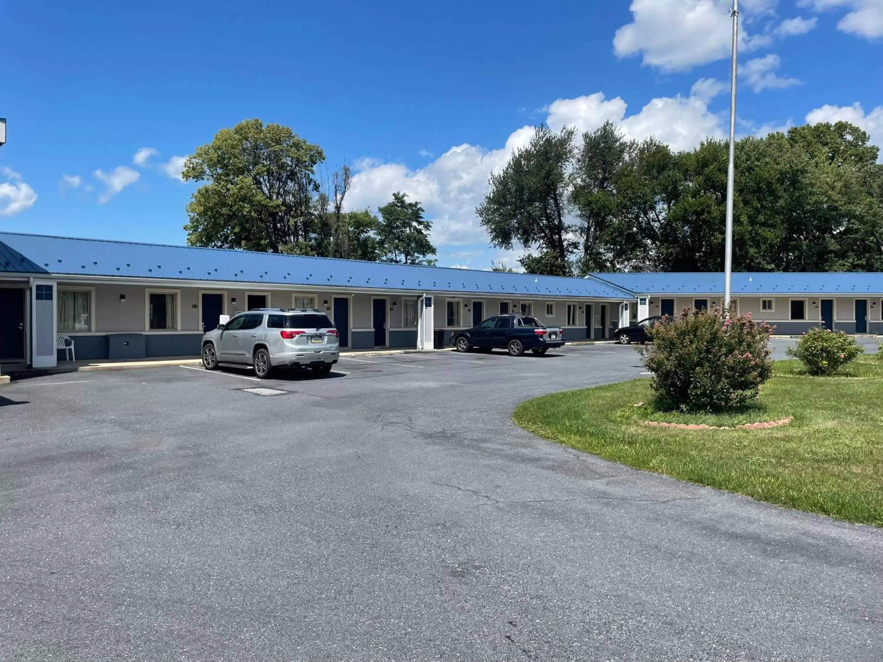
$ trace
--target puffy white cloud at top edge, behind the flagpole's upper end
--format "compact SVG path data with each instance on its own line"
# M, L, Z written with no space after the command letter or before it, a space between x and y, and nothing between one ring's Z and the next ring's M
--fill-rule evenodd
M745 0L743 16L766 14L777 2ZM644 64L663 71L688 71L730 55L733 28L728 0L632 0L629 9L631 23L614 35L617 56L641 54ZM740 30L740 49L758 49L771 42L767 34Z

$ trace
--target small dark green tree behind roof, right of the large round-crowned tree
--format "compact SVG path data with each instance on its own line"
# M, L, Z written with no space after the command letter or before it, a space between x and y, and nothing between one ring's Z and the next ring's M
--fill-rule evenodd
M407 197L405 193L395 192L392 201L377 210L381 214L377 225L381 260L434 265L436 260L427 259L436 254L428 236L432 223L423 218L420 203L408 202Z

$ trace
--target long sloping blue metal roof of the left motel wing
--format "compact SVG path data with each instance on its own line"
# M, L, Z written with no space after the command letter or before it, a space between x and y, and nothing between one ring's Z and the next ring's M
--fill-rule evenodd
M0 272L417 290L497 296L592 297L629 292L600 281L266 252L0 232Z

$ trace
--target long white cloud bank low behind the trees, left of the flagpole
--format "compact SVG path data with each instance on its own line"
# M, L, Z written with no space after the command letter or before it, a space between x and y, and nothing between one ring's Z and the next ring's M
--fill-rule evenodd
M723 137L720 119L708 110L705 99L696 96L653 99L631 116L623 99L607 99L601 93L559 99L544 111L545 122L554 131L562 126L592 131L610 120L629 138L656 136L675 149L690 149L708 137ZM355 164L358 172L352 178L347 208L380 207L389 202L393 192L405 192L426 209L426 218L433 222L434 245L485 244L487 234L476 218L475 207L487 192L487 178L502 169L512 152L530 141L533 132L534 127L523 126L498 149L457 145L419 169L360 159Z

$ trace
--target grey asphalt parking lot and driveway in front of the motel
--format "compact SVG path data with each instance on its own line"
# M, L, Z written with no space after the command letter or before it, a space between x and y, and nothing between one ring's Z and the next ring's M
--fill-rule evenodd
M883 658L883 531L512 424L630 348L337 367L0 390L0 659Z

